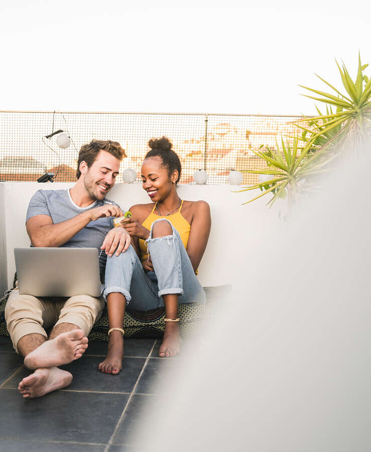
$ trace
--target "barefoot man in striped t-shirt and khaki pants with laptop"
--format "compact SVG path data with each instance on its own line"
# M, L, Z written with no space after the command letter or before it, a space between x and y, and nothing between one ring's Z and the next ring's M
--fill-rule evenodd
M32 246L101 249L102 278L106 255L125 252L131 241L125 229L112 228L112 217L122 212L105 201L123 157L125 151L113 141L93 140L82 146L74 187L38 190L32 197L26 217ZM25 366L34 371L18 386L23 397L41 397L71 383L72 375L58 366L82 356L86 336L103 307L103 297L36 298L20 295L18 289L11 293L5 310L7 327L14 348L25 357ZM44 328L51 327L48 338Z

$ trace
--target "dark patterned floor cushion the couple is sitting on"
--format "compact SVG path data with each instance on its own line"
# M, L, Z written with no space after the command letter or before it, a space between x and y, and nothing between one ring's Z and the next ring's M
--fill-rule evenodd
M210 318L215 313L215 307L229 292L231 286L205 287L206 304L189 303L180 304L178 314L181 334L197 328L200 323ZM9 291L8 291L9 292ZM0 300L0 335L9 336L4 320L4 309L9 293ZM135 311L127 309L123 320L125 337L161 337L165 327L165 309L157 308L151 311ZM108 341L108 314L105 307L100 320L90 331L89 340Z

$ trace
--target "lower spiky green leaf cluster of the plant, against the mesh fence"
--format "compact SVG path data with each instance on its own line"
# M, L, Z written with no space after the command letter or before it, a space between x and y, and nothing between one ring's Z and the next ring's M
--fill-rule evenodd
M307 144L304 149L298 148L298 138L295 137L292 146L287 142L285 144L281 137L281 146L276 140L277 150L267 148L268 151L253 151L258 157L262 158L269 165L268 169L244 170L243 172L254 174L266 174L272 176L271 179L260 182L249 187L245 187L238 192L256 190L260 188L263 193L244 202L248 204L262 196L272 193L273 197L267 202L270 207L278 198L286 198L288 196L289 207L291 207L298 195L298 191L308 190L312 188L310 183L305 181L306 178L314 176L321 172L327 171L324 166L330 159L323 158L326 146L323 146L313 155L308 156L311 143Z

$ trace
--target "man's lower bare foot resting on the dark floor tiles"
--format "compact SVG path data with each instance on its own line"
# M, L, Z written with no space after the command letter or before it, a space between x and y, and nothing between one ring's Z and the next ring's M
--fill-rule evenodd
M18 385L18 389L24 398L42 397L48 392L65 388L70 385L72 375L57 367L48 369L36 369L36 371L25 377Z

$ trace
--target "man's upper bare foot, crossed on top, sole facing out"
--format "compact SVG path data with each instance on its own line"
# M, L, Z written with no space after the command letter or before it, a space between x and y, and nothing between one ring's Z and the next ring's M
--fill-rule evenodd
M25 358L29 369L62 366L81 358L87 349L88 338L81 329L73 329L41 344Z

